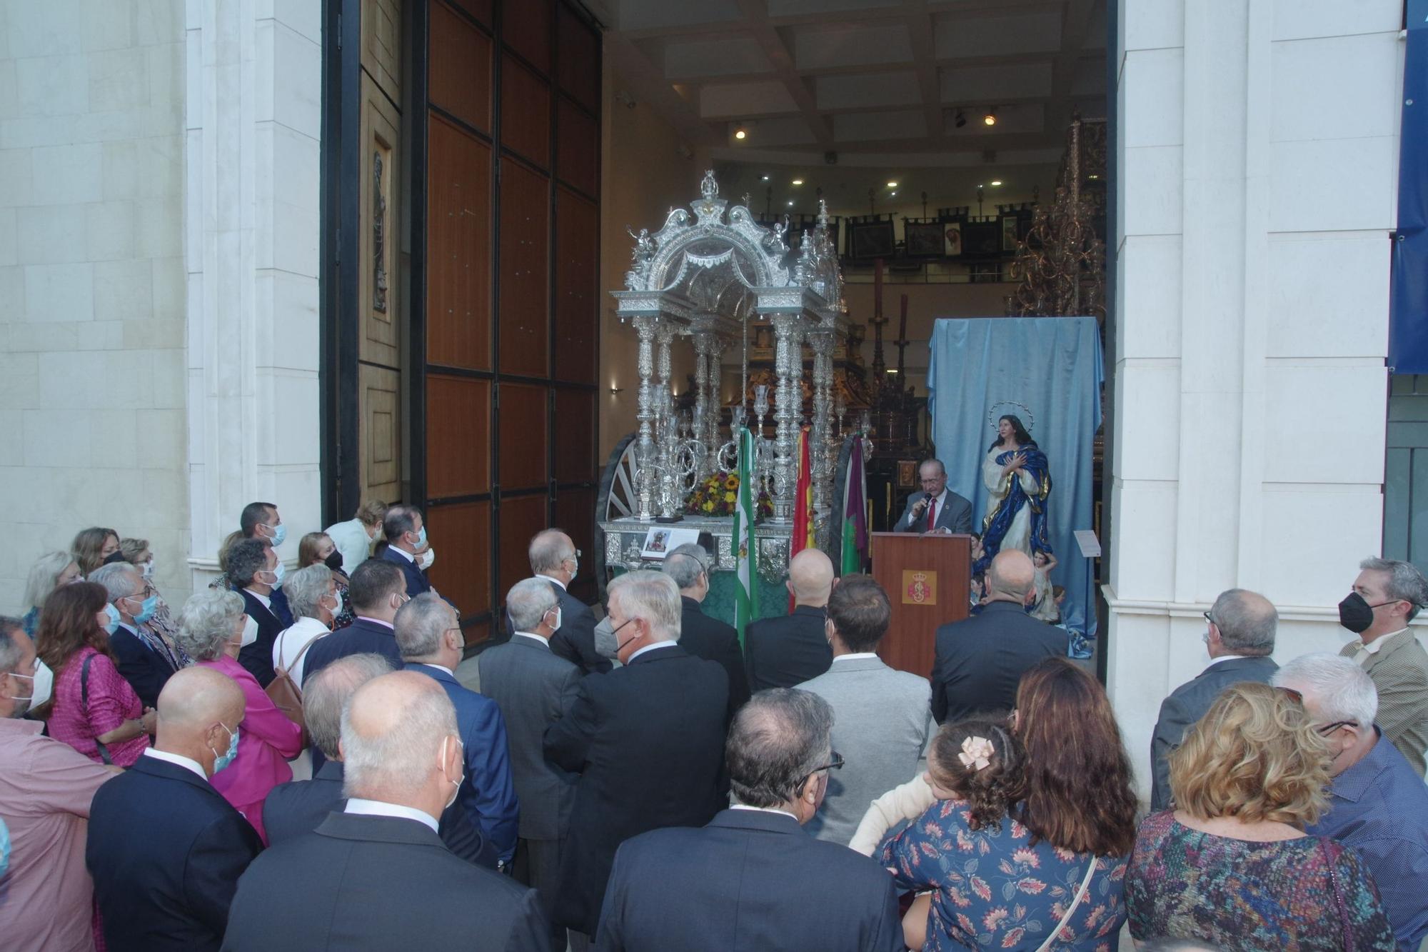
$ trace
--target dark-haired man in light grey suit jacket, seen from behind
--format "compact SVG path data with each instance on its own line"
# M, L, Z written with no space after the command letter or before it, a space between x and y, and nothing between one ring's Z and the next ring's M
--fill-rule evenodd
M887 592L873 576L843 576L828 598L833 668L798 685L833 706L833 746L847 760L808 822L818 839L847 845L868 803L917 775L927 746L931 686L877 656L891 620Z

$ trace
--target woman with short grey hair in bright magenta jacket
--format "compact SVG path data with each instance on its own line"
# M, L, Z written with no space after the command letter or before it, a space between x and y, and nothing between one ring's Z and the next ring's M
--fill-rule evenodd
M277 709L257 679L238 663L246 620L243 596L237 592L198 592L184 602L178 615L178 646L194 662L223 672L243 689L243 722L231 728L237 756L221 770L216 769L210 783L267 843L263 800L274 786L293 779L287 762L303 749L303 729Z

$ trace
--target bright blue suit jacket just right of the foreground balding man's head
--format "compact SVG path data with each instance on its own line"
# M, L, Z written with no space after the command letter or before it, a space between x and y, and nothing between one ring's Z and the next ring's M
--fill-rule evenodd
M466 779L457 802L467 816L496 846L497 855L510 862L520 828L520 805L511 779L511 752L506 739L501 709L486 695L464 688L441 668L408 662L406 670L420 670L434 678L456 706L456 720L466 745Z

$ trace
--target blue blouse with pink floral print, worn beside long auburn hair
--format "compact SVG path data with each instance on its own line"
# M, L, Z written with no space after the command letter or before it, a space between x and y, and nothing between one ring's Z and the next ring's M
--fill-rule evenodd
M1092 858L1045 841L1011 818L970 826L964 800L937 800L883 843L881 862L904 889L934 889L928 952L958 948L1035 949L1045 942L1097 863L1085 898L1054 949L1112 952L1125 922L1125 856Z

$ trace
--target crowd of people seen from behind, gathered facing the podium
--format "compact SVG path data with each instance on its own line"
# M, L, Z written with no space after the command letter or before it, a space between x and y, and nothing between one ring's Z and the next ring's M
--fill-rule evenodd
M1161 708L1145 813L1017 546L921 678L878 658L883 587L817 549L790 562L790 613L740 639L705 613L698 545L593 608L547 529L500 643L466 659L418 509L367 503L291 570L277 506L238 523L177 610L149 545L99 527L0 618L6 949L1428 938L1412 565L1365 560L1339 606L1357 639L1282 666L1275 608L1222 593L1210 666Z

